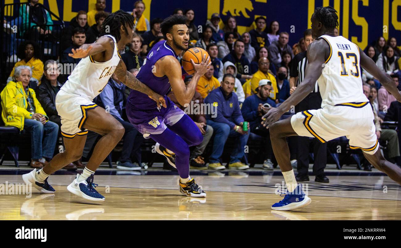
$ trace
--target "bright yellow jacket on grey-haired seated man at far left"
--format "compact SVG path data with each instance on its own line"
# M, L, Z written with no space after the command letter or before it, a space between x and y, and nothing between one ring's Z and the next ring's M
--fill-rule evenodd
M46 116L45 110L36 98L35 91L28 88L29 93L33 97L36 113L40 113L46 117L46 121L49 117ZM22 82L15 83L13 81L8 82L6 87L0 93L2 113L4 125L18 127L21 131L24 129L24 119L32 118L32 113L26 110L28 106L26 102L26 93Z

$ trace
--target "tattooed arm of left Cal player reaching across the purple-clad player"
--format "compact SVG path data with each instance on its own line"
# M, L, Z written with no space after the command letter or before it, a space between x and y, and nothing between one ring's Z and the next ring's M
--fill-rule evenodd
M121 81L128 88L142 92L148 95L148 97L152 98L154 101L156 101L158 108L160 108L160 106L163 106L165 108L167 107L164 97L152 91L152 89L141 83L141 81L134 77L132 73L127 71L126 65L124 64L122 59L120 59L120 62L118 63L114 73L115 75L117 75L118 80Z

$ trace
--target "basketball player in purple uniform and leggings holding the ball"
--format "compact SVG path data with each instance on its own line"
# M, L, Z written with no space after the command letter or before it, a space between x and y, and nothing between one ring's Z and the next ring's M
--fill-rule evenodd
M186 17L174 15L166 18L161 26L163 41L156 43L146 56L136 78L154 92L164 96L166 108L156 108L154 101L144 93L132 91L126 111L128 119L145 138L156 141L156 151L167 158L180 174L179 190L185 196L206 197L189 176L189 147L202 142L203 136L196 124L166 96L174 91L178 102L184 106L194 96L198 80L211 65L210 58L203 57L196 65L195 73L185 85L177 54L188 49L189 31Z

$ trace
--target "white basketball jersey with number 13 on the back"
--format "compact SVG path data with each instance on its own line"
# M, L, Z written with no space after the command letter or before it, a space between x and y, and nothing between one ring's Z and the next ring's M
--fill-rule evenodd
M367 102L362 89L359 48L342 36L322 35L330 46L330 56L318 79L322 108L326 105Z

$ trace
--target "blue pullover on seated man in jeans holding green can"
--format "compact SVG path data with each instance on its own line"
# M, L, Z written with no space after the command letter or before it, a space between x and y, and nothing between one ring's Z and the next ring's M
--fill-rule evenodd
M237 94L232 92L227 97L223 93L221 87L214 89L205 98L205 103L209 103L211 107L217 109L215 117L211 114L206 115L206 119L213 120L216 122L226 123L231 129L235 125L240 125L244 121L239 108Z

